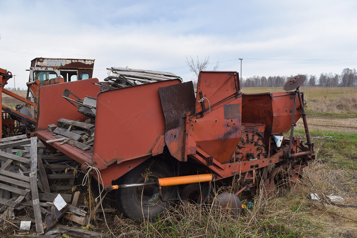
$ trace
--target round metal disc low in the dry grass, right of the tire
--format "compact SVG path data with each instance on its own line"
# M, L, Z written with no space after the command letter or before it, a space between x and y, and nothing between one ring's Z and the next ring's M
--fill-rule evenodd
M233 193L221 193L213 200L213 208L238 216L242 211L242 203Z

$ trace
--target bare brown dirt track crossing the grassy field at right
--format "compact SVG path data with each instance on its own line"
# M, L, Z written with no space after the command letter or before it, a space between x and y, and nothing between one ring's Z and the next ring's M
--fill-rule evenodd
M309 117L307 123L309 129L357 133L357 118ZM303 128L302 119L296 124L297 128Z

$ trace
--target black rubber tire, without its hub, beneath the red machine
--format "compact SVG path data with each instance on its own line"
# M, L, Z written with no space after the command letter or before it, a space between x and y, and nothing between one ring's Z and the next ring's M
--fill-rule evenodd
M142 177L142 174L146 173L145 169L147 168L149 168L150 176L152 177L166 178L174 176L173 169L167 165L161 157L156 157L139 164L134 169L124 174L120 179L118 179L118 184L144 182L144 177ZM170 197L174 187L175 186L162 187L162 199L167 200ZM160 200L159 194L155 193L153 196L157 198L155 199L156 204L152 206L143 206L143 208L141 208L141 203L138 201L136 196L137 189L140 188L142 189L143 187L122 188L117 189L115 192L116 202L120 211L124 214L124 216L134 221L143 219L143 213L145 220L149 219L149 221L151 221L156 219L165 211L166 208L172 206L174 200L176 199L176 193L174 192L174 195L172 195L171 199L164 203Z

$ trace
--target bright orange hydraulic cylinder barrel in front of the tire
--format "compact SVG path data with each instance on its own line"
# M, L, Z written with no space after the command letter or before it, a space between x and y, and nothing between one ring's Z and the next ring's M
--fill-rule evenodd
M179 177L171 177L171 178L159 178L157 186L173 186L180 184L188 184L188 183L201 183L201 182L209 182L213 180L213 175L211 173L207 174L197 174L197 175L188 175L188 176L179 176Z

